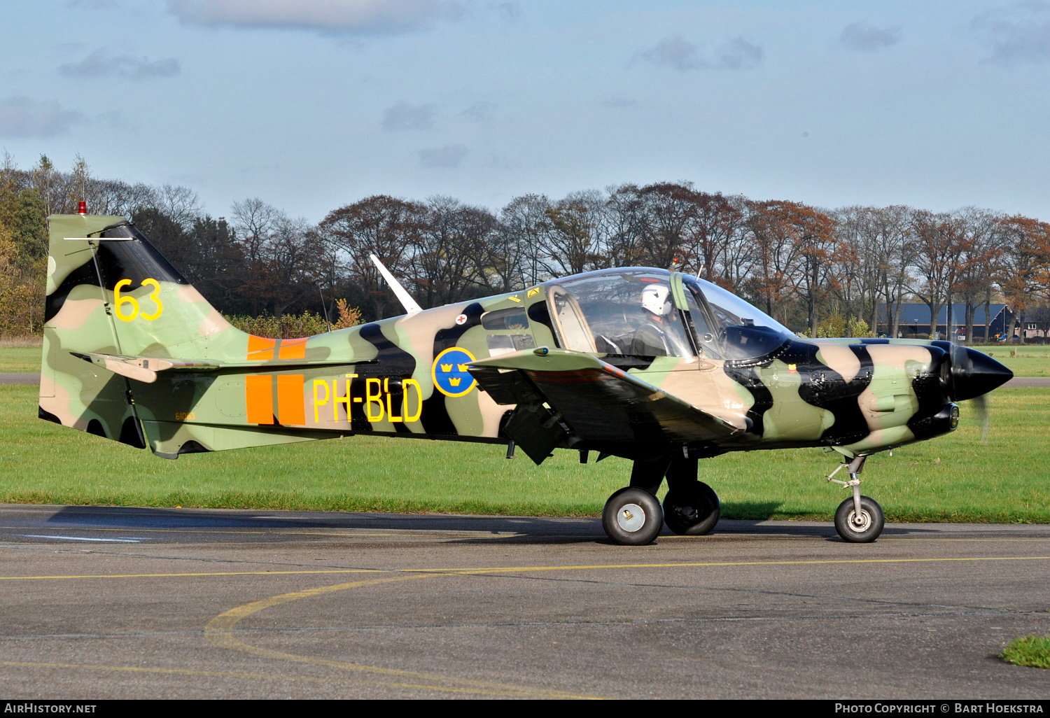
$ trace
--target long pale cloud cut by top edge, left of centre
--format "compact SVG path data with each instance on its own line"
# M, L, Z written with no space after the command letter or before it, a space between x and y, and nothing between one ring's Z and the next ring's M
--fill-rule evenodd
M191 25L364 35L421 29L463 13L452 0L168 0L168 10Z

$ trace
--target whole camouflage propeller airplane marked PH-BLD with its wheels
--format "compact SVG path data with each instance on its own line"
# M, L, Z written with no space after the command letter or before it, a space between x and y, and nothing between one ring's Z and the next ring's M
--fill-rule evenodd
M726 290L650 268L588 272L299 339L231 326L121 217L49 217L40 417L159 457L370 432L633 461L603 525L648 544L704 534L699 459L824 447L874 541L865 459L953 430L957 401L1012 374L946 341L804 339ZM835 479L845 468L848 481ZM663 507L655 493L667 478Z

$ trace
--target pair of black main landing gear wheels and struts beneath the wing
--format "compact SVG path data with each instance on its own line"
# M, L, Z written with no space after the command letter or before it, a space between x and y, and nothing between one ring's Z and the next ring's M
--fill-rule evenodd
M697 460L659 455L635 459L631 485L605 504L602 526L623 546L643 546L656 538L665 522L675 533L700 536L710 533L721 516L721 504L710 486L696 480ZM669 490L660 507L656 491L667 476Z

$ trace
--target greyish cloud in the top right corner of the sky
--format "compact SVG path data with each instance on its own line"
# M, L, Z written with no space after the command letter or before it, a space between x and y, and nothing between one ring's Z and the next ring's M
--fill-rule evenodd
M975 17L972 27L988 43L989 60L1003 65L1050 60L1050 3L1015 2Z

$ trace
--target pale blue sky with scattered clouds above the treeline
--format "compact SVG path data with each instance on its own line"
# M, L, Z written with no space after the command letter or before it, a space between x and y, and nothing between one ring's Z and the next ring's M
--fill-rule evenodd
M1050 220L1050 2L40 0L0 148L258 196L499 209L633 182Z

